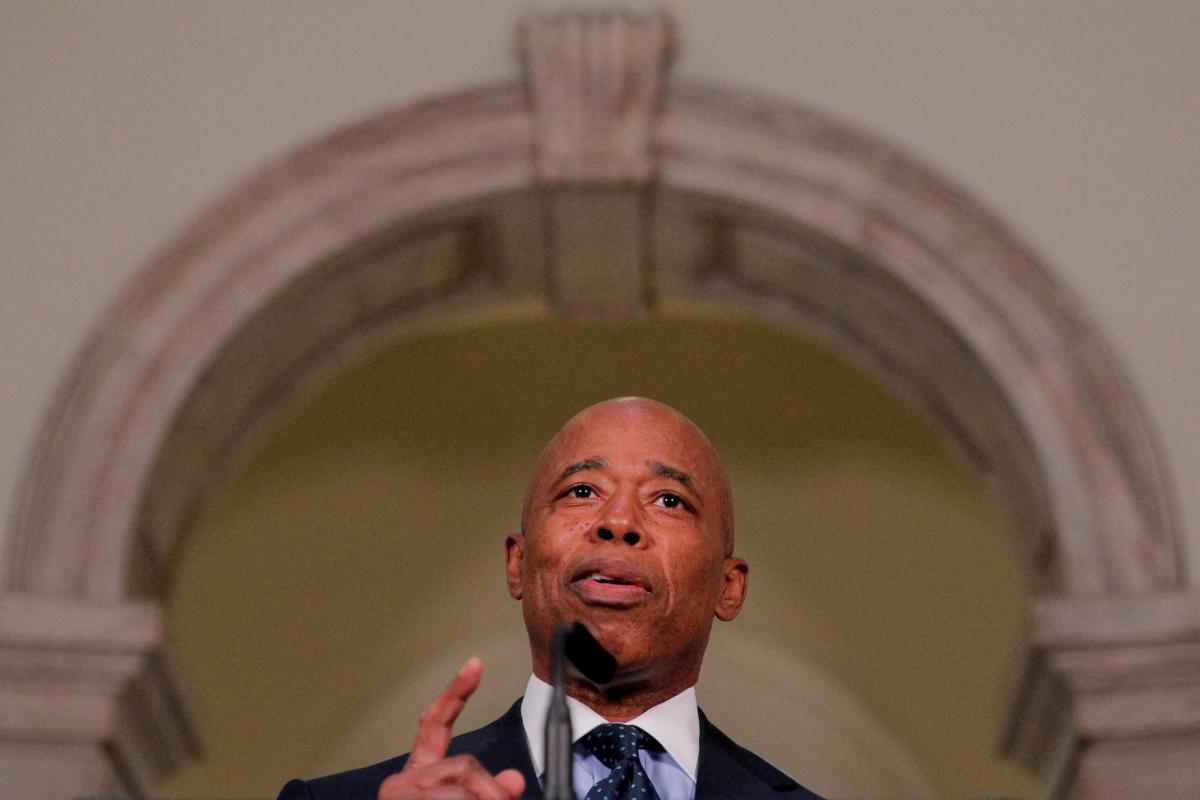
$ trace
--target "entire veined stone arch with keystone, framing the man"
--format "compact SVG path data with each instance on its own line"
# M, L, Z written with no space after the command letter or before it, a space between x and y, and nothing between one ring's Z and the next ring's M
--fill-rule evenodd
M1100 796L1110 774L1183 796L1200 601L1145 414L1078 301L895 148L670 82L664 17L533 17L520 41L522 82L268 166L110 307L10 530L0 724L41 766L6 756L6 774L26 796L49 796L49 776L137 789L196 757L160 600L204 498L306 386L457 314L713 307L875 372L1008 509L1034 601L1006 747L1056 796Z

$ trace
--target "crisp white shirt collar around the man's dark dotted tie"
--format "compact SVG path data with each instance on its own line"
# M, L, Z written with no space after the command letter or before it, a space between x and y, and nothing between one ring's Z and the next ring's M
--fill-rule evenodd
M546 681L529 675L524 699L521 702L521 722L524 724L536 775L546 771L546 711L553 691ZM596 726L608 722L574 697L566 698L566 709L571 715L572 741L578 741ZM626 724L636 724L658 739L688 777L696 780L696 764L700 762L700 711L696 708L695 686L648 709Z

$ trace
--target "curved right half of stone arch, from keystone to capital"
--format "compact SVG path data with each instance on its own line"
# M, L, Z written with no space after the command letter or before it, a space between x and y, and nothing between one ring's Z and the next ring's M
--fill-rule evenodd
M743 249L787 242L769 275L727 242L682 285L827 339L924 410L1007 500L1033 591L1184 581L1141 408L1086 312L1000 222L895 148L767 98L672 85L658 136L660 192L719 198L703 212L754 231ZM814 271L839 289L811 296ZM990 411L964 407L988 395Z

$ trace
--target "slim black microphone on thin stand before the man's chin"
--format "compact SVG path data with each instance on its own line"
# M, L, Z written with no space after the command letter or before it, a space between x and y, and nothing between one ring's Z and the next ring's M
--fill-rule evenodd
M571 781L571 714L566 708L565 661L593 684L607 684L617 675L617 660L596 642L583 622L554 626L550 652L551 696L546 710L546 800L575 800Z

